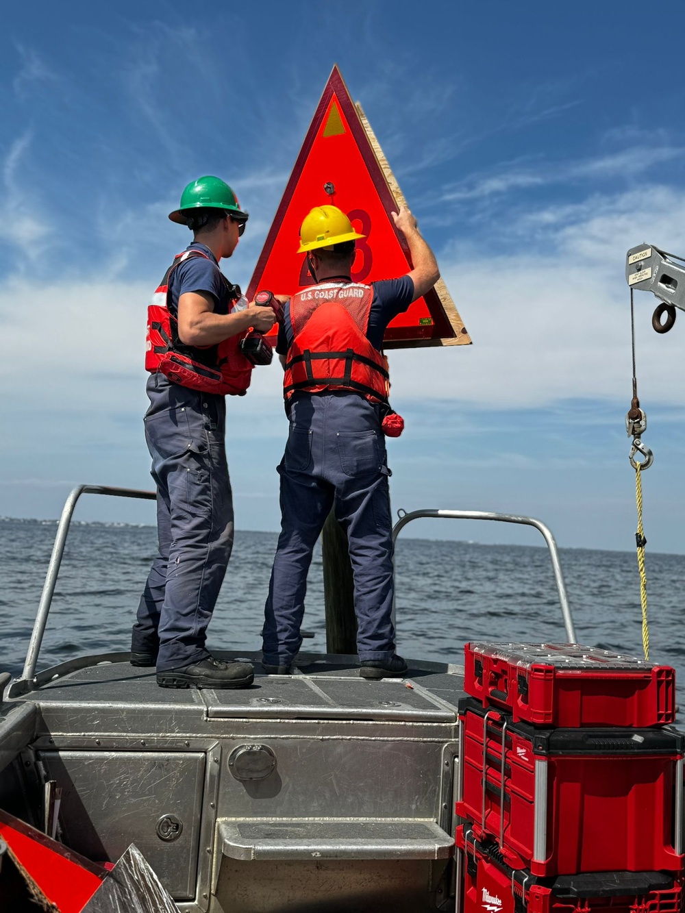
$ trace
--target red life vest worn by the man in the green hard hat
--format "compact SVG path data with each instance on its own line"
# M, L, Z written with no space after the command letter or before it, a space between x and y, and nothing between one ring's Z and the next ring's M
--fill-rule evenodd
M170 381L201 393L242 396L248 389L252 374L252 365L240 351L240 341L247 332L212 346L184 345L178 338L178 318L169 309L169 285L174 269L188 257L210 259L201 250L184 250L174 257L174 262L164 273L147 309L145 370L160 371ZM229 283L223 273L221 278L228 288ZM234 299L239 296L238 290Z

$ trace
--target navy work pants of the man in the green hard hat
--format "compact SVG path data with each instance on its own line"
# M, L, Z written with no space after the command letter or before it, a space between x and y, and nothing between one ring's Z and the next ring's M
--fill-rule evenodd
M226 403L152 374L145 437L157 486L159 551L133 625L132 650L156 653L157 671L209 656L212 617L233 547Z

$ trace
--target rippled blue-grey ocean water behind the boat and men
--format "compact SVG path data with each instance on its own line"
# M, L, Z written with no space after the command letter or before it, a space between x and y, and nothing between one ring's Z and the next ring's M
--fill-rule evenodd
M18 675L57 530L56 522L0 520L0 671ZM38 668L72 656L126 650L155 551L153 527L74 523ZM237 532L209 627L209 647L258 650L276 534ZM636 556L561 550L581 643L641 656ZM685 556L647 555L650 656L685 681L680 636ZM404 656L461 662L469 640L564 641L545 548L400 537L396 551L397 648ZM312 562L305 649L325 651L321 551Z

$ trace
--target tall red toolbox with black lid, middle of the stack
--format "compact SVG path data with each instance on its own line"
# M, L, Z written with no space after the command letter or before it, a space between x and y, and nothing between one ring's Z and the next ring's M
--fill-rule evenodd
M459 702L456 812L535 876L683 867L685 735L537 729Z

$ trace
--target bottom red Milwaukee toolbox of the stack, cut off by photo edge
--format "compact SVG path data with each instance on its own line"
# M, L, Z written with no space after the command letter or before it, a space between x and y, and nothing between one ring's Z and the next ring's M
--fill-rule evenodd
M457 828L458 913L681 913L680 878L665 872L597 872L536 878L511 869L497 847Z

